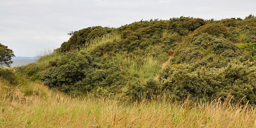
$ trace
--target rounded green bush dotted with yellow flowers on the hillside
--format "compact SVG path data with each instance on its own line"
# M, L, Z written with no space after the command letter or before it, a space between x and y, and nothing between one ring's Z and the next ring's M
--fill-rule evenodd
M179 45L180 48L174 50L174 64L198 62L203 66L220 68L226 66L230 59L252 59L251 55L247 56L248 54L242 52L235 43L208 33L201 33L192 37L190 42Z

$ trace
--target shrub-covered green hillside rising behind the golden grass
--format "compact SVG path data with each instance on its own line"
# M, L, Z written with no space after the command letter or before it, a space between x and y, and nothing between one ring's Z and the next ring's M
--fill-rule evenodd
M256 18L180 17L100 26L70 39L17 73L68 95L209 100L256 99ZM162 65L165 66L162 66ZM157 79L156 79L157 78Z

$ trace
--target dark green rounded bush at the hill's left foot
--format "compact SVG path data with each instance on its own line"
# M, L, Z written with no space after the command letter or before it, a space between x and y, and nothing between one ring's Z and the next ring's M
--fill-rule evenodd
M49 67L40 73L41 80L49 87L58 87L70 94L82 94L99 87L107 93L117 91L112 86L120 83L122 77L113 63L106 63L102 58L92 58L84 50L73 51L60 60L52 61Z

